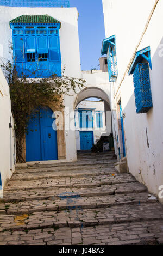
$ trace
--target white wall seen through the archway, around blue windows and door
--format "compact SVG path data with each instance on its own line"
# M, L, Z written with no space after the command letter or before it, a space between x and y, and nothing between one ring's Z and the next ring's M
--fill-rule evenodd
M93 128L80 128L79 127L79 117L78 117L78 108L83 109L92 109L92 115L93 115ZM103 127L97 128L96 123L96 113L98 111L101 111L102 113L102 122ZM102 133L106 132L106 126L105 126L105 113L104 113L104 102L102 101L82 101L78 104L76 111L76 146L77 150L80 150L80 131L93 131L93 142L94 144L97 143L97 140L100 139Z

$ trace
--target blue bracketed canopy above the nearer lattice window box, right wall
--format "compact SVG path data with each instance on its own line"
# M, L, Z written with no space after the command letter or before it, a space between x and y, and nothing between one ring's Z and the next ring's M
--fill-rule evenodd
M129 75L132 75L134 73L134 70L136 68L136 65L138 63L143 63L143 60L147 60L147 62L149 63L149 67L152 69L152 62L151 62L151 48L150 46L136 52L135 54L135 58L133 60L133 63L130 66L130 69L128 71Z

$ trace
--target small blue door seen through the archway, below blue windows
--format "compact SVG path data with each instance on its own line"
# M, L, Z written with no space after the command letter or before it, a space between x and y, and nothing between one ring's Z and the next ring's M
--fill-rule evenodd
M93 132L80 131L80 149L91 150L93 145Z

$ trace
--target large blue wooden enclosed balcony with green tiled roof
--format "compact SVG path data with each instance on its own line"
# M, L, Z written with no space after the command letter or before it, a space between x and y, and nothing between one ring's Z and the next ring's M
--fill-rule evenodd
M18 76L61 77L61 22L48 15L22 15L9 24Z

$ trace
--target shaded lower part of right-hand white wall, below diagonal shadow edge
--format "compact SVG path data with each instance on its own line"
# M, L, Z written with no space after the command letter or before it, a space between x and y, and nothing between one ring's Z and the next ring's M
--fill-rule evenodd
M153 107L147 113L136 114L132 94L123 109L123 121L129 172L158 196L159 186L163 185L163 38L152 57L149 74Z

